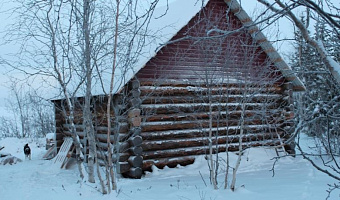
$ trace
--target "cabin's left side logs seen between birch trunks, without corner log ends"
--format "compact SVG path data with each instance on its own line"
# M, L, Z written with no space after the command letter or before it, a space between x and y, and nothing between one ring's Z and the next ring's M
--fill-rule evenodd
M127 117L124 116L124 111L126 105L125 100L122 100L121 95L116 95L113 102L115 106L114 108L118 108L118 110L122 111L122 116L118 116L114 109L111 109L111 136L110 142L111 144L115 144L114 133L118 132L118 140L120 143L128 142L129 135L129 123ZM82 112L82 102L83 98L77 98L74 100L74 123L76 126L77 135L79 136L81 143L84 147L85 155L88 154L87 149L87 140L84 134L84 126L83 126L83 112ZM56 138L57 138L57 147L58 149L63 143L63 138L67 136L71 136L70 132L70 124L67 120L69 111L64 106L64 100L56 100L54 101L55 105L55 119L56 119ZM107 115L106 115L106 105L107 98L106 96L94 96L92 99L93 104L93 123L96 131L96 142L97 142L97 155L98 160L101 164L104 164L107 160ZM122 161L127 161L129 154L126 152L119 151L119 159ZM116 156L117 157L117 156Z

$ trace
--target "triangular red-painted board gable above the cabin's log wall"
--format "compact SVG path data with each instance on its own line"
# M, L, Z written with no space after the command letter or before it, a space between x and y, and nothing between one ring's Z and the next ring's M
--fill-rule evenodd
M215 31L209 35L213 37L207 37L212 29L233 31L241 27L223 0L210 0L136 76L186 82L265 81L273 77L282 81L281 73L246 30L228 36Z

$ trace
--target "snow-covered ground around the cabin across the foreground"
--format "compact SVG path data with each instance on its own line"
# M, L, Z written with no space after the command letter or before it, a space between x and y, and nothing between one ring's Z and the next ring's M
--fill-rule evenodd
M23 146L29 143L32 160L25 160ZM0 165L1 200L321 200L327 197L328 176L318 172L300 157L285 157L270 171L275 152L268 148L252 148L243 154L237 176L237 190L223 189L224 175L220 175L220 189L209 184L209 173L204 157L193 165L155 169L140 180L120 178L118 192L102 195L99 185L79 181L76 167L60 169L53 160L43 160L45 140L5 138L0 140L1 151L22 159L13 165ZM220 154L225 157L225 154ZM231 156L234 161L235 155ZM223 168L223 166L221 167ZM201 175L200 175L201 174ZM329 199L340 199L340 191Z

